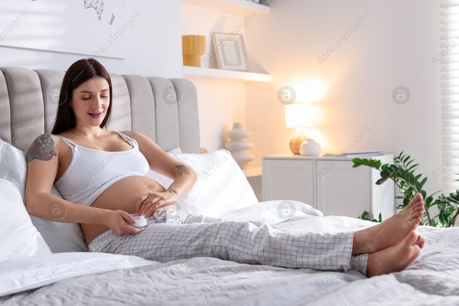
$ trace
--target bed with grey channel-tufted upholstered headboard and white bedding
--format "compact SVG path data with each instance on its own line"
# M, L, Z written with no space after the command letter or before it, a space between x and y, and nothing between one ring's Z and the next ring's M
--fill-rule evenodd
M0 67L0 71L0 139L3 141L3 147L0 146L3 203L0 205L8 215L24 217L21 185L25 184L25 178L23 173L14 172L24 163L21 153L39 134L50 132L57 109L56 93L64 72L19 67ZM224 154L223 149L199 154L200 123L193 83L184 79L113 73L110 76L113 117L107 129L145 134L174 157L194 162L196 168ZM175 100L168 99L169 94ZM14 148L8 147L8 143ZM229 158L224 167L210 180L197 184L181 208L191 207L203 214L232 220L270 224L285 221L278 211L283 201L258 203L235 161ZM170 184L167 179L152 175L166 188ZM197 197L201 199L200 205L196 204ZM301 220L299 226L312 232L355 231L373 225L349 217L322 217L320 211L306 203L290 201L290 204L295 206L295 216ZM5 229L3 224L7 220L5 216L0 217L0 228L10 233L11 229ZM2 248L7 249L6 253L0 252L4 256L0 257L2 305L459 304L459 230L456 228L419 227L426 245L408 269L366 278L352 270L340 273L287 269L208 257L159 263L136 256L90 253L84 250L84 245L71 243L72 239L79 239L80 232L75 225L65 225L73 231L73 238L67 239L72 246L65 246L62 240L56 243L65 237L50 236L56 232L66 234L64 230L46 233L46 227L38 226L37 220L32 224L29 218L27 222L30 224L22 234L34 237L34 241L28 243L28 250L20 245L11 248L9 244L16 245L15 239L30 238L20 237L21 233L17 237L2 233ZM34 246L33 250L30 246Z

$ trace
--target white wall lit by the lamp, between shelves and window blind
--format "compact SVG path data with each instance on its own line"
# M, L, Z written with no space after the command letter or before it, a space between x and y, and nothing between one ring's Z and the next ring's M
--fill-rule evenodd
M339 151L369 126L371 132L354 150L404 150L420 162L427 193L441 189L432 175L441 165L440 66L431 59L440 50L439 2L378 2L271 0L271 13L246 30L249 55L273 77L272 83L246 86L246 125L258 129L252 166L261 165L262 155L289 153L294 130L285 128L284 105L276 95L290 85L319 96L311 100L322 131L316 126L309 135L323 152ZM364 28L320 65L317 57L337 39L343 41L340 34L366 11L371 17ZM403 106L391 97L400 85L412 94Z

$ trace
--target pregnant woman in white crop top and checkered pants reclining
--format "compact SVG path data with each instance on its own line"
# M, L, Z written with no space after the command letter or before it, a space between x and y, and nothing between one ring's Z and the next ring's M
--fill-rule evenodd
M80 223L90 251L161 262L208 256L278 267L351 268L371 277L405 269L425 243L414 231L424 209L420 194L382 223L330 234L302 229L302 217L267 226L177 210L175 202L190 192L196 173L143 134L105 130L111 110L108 72L95 59L76 61L62 81L52 133L39 135L26 153L28 213ZM166 190L148 177L150 170L174 182ZM65 200L50 194L53 184ZM55 208L64 217L56 220ZM146 227L130 225L131 214L145 215Z

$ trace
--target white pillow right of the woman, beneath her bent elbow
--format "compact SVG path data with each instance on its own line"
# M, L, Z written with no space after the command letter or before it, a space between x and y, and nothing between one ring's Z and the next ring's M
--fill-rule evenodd
M209 217L221 217L230 211L258 203L246 176L228 150L171 156L190 166L198 177L193 189L177 200L177 208ZM150 178L166 189L173 182L153 171L150 171Z

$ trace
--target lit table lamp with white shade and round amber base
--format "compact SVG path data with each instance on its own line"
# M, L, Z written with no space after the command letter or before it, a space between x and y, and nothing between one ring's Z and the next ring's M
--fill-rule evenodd
M308 139L304 128L313 127L311 120L313 105L311 103L292 103L285 105L285 125L287 128L296 128L295 135L290 139L290 150L293 154L300 154L301 143Z

